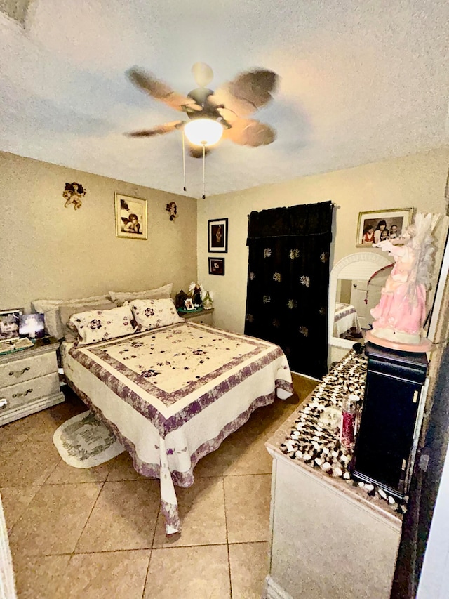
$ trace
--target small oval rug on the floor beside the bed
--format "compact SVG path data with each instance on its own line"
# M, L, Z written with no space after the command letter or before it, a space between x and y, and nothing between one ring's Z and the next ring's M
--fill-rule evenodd
M125 451L90 410L61 424L55 430L53 443L65 463L74 468L93 468Z

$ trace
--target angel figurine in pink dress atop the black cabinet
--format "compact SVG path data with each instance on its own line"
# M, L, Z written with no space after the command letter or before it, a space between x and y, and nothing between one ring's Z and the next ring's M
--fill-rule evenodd
M438 218L439 215L418 212L415 223L402 237L373 244L388 251L395 264L382 288L380 302L371 310L375 321L370 338L410 345L422 343L426 290L434 256L431 233Z

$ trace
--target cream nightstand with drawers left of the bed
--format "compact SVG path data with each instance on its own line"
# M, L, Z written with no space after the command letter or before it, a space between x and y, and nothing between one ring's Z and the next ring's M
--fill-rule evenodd
M38 339L33 348L0 356L0 426L65 400L60 391L59 343Z

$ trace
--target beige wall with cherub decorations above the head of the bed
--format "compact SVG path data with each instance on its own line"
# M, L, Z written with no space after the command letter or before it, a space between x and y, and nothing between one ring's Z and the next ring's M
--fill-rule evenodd
M77 211L62 198L72 181L87 190ZM116 237L114 192L147 199L147 241ZM0 308L196 279L196 199L1 152L0 206Z

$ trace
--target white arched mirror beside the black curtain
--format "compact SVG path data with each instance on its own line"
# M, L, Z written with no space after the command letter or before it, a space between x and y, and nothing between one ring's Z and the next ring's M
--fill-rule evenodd
M391 271L389 257L361 251L337 262L330 272L328 342L351 349L363 341L373 322L370 310L380 300L380 291ZM373 276L375 275L375 276Z

